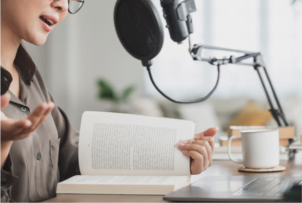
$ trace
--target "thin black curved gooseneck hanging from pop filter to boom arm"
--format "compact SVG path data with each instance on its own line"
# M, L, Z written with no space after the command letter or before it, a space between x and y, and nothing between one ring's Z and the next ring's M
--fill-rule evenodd
M152 77L152 74L151 74L151 70L150 70L150 66L147 66L147 70L148 70L148 73L149 73L149 77L151 79L151 82L153 84L153 86L155 87L155 89L160 93L162 94L164 97L166 97L167 99L169 99L170 101L173 101L175 103L180 103L180 104L191 104L191 103L197 103L199 101L204 101L206 99L208 99L215 91L217 85L218 85L218 82L219 82L219 77L220 77L220 64L217 64L217 71L218 71L218 75L217 75L217 81L216 81L216 85L214 86L214 88L211 90L211 92L206 95L205 97L202 97L202 98L199 98L199 99L196 99L196 100L189 100L189 101L178 101L178 100L175 100L175 99L172 99L171 97L167 96L164 92L162 92L155 84L154 80L153 80L153 77Z

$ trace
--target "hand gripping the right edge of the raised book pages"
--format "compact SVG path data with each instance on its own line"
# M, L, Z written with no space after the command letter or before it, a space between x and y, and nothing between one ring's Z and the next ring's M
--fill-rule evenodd
M208 130L194 135L194 139L179 140L178 149L183 154L190 156L191 174L199 174L212 165L214 153L214 138L218 128L209 128Z

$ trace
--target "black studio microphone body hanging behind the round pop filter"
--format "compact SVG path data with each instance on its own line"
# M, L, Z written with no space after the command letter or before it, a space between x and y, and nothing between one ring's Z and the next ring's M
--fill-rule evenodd
M160 0L163 8L166 28L174 42L181 43L193 33L193 23L190 13L196 11L194 0Z

